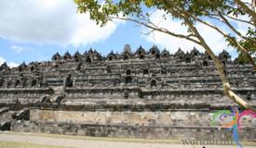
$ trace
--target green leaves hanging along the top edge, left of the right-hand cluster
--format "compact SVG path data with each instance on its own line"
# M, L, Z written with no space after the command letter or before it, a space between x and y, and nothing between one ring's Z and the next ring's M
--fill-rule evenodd
M90 13L91 19L106 23L110 16L120 13L126 16L140 16L144 7L164 10L182 9L195 16L217 12L226 5L226 0L74 0L78 12ZM233 10L234 11L234 10Z

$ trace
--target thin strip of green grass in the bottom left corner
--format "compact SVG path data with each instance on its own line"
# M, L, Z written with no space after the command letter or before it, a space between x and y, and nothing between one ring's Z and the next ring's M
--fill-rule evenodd
M4 142L4 141L0 141L0 148L62 148L62 147L32 144L32 143L27 143L27 142Z

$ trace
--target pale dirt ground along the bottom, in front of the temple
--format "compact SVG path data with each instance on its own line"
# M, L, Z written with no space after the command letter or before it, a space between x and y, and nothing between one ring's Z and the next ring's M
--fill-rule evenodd
M40 145L52 145L69 148L236 148L234 146L222 145L183 145L178 143L154 143L154 142L111 142L71 139L64 137L47 137L34 134L0 133L2 142L25 142ZM256 146L244 146L244 148L255 148ZM1 147L2 148L2 147Z

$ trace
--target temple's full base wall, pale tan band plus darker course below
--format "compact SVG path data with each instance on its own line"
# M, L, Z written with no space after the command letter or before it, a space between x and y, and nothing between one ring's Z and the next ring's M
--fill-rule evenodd
M11 129L106 137L230 140L231 131L211 125L213 112L214 110L185 108L154 112L33 108L30 121L12 122ZM244 117L242 125L239 138L256 140L256 118Z

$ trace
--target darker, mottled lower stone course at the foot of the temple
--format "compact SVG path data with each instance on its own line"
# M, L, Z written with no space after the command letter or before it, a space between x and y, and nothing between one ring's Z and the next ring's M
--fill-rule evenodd
M70 124L55 122L12 122L12 130L54 134L155 139L230 140L231 131L218 128ZM243 129L241 139L255 140L256 129ZM254 137L253 137L254 136Z

